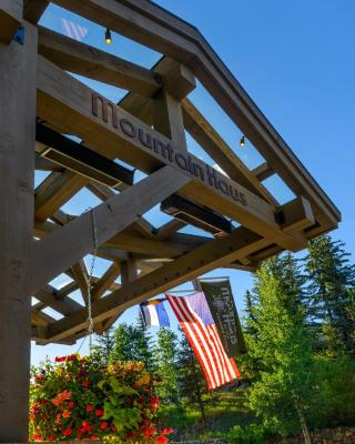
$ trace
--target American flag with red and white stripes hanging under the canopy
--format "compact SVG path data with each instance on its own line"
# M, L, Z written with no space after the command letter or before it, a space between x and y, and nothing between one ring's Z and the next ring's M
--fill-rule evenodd
M240 372L234 360L223 349L204 294L197 292L183 297L166 294L166 300L197 357L209 390L237 379Z

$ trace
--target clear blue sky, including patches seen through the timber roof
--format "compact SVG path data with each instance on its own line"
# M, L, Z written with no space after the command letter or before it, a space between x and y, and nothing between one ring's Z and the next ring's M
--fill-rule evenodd
M329 194L343 215L343 222L333 236L345 241L354 258L355 2L160 0L156 3L200 29ZM84 42L143 67L150 68L161 57L118 34L113 34L113 44L108 47L101 27L55 6L48 9L42 24L64 33L62 19L87 30ZM118 101L125 94L125 91L116 88L81 80L111 100ZM193 91L191 100L247 167L254 168L261 163L262 159L253 147L239 147L240 131L201 85ZM187 138L187 143L195 155L210 164L214 163L191 138ZM142 176L139 174L138 180ZM44 174L38 174L37 184L43 178ZM275 179L270 180L267 186L281 201L287 201L292 196ZM80 214L98 203L89 192L83 191L63 209L69 213ZM155 225L168 220L158 209L153 209L148 218ZM102 272L106 265L104 261L98 261L97 271ZM252 276L246 272L232 270L216 270L210 275L231 278L236 304L242 312L243 295L252 286ZM61 285L63 282L63 278L60 278L55 284ZM187 283L183 287L191 289L192 285ZM75 297L80 300L79 295ZM133 322L135 314L136 307L133 307L123 314L121 321ZM175 327L173 315L170 317ZM77 349L78 345L69 347L51 344L41 347L32 344L32 362L37 363L45 355L71 353ZM85 350L87 344L82 352Z

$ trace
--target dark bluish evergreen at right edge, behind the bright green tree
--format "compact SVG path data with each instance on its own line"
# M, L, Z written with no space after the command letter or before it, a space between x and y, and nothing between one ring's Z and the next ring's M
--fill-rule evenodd
M310 242L305 269L310 281L307 306L310 317L325 326L329 345L336 351L354 351L355 265L344 243L323 235Z

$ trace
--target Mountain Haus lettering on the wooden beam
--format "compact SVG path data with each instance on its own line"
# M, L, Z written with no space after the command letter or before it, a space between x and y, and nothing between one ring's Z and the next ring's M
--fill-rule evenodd
M196 163L189 154L173 149L170 142L163 142L156 132L152 135L143 127L139 127L128 118L121 118L119 112L120 108L110 102L102 95L92 93L92 114L99 117L99 103L101 104L101 117L105 123L109 123L109 115L113 128L125 134L128 138L139 141L143 148L152 150L159 157L162 157L166 163L176 164L181 170L189 172L194 178L206 183L211 188L215 188L226 196L231 196L242 205L247 205L246 196L237 190L237 188L227 180L224 180L217 171L206 163Z

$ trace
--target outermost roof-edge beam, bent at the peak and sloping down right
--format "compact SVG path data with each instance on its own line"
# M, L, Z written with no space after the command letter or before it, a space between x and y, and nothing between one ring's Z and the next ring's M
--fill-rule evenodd
M136 0L54 0L191 68L296 195L304 195L333 224L339 211L195 27L152 2Z

